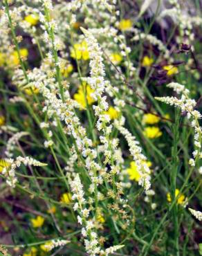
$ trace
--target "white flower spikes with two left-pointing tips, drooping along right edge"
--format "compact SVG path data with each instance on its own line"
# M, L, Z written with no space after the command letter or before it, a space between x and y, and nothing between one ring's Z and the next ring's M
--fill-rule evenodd
M199 119L202 118L202 115L199 111L195 110L196 101L189 98L190 91L185 89L185 86L182 84L178 84L172 82L167 84L167 87L174 89L177 93L181 93L181 98L178 99L176 97L156 97L156 100L161 102L165 102L171 106L178 107L182 112L187 113L187 118L191 122L191 126L194 128L194 146L195 150L193 152L194 158L190 158L189 164L191 166L195 166L198 158L202 158L201 153L201 136L202 136L202 128L199 125Z

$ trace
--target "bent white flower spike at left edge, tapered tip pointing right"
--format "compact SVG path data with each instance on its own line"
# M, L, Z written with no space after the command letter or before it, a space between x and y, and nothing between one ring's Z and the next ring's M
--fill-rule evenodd
M17 177L15 176L15 170L20 167L23 163L24 165L33 165L33 166L45 166L46 163L41 163L29 156L22 157L17 156L14 160L12 158L6 159L8 163L8 167L4 167L2 170L2 174L6 176L6 183L10 185L10 187L15 188L15 184L17 183Z

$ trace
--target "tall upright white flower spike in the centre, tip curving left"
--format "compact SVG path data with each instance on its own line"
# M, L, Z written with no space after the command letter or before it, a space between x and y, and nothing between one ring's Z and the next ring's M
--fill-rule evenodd
M112 125L107 125L110 122L109 115L105 114L109 108L107 103L107 96L103 93L106 91L107 83L104 81L104 64L102 58L102 51L98 45L98 41L95 37L89 33L88 30L82 28L84 35L86 36L86 42L88 44L88 49L91 57L90 67L91 67L91 77L88 79L88 83L91 88L95 90L93 97L98 100L98 106L93 106L95 111L95 116L98 116L98 121L96 127L98 131L102 131L104 136L100 136L100 142L104 145L104 163L114 162L113 153L116 151L118 146L118 140L111 141L109 139L109 134L111 134ZM118 167L116 165L111 166L111 170L118 172Z

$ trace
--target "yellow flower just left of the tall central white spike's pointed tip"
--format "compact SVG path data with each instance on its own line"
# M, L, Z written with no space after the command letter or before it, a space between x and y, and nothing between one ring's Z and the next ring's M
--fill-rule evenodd
M74 44L73 49L71 49L71 57L77 60L89 60L89 51L86 41L81 42L81 44Z

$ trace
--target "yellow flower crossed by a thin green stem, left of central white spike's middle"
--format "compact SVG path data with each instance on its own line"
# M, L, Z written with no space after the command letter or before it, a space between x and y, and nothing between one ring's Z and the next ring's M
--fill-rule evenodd
M79 86L79 89L78 89L77 93L75 93L75 95L73 95L73 98L81 105L81 107L83 109L86 109L86 101L88 102L89 105L91 105L91 104L93 104L93 102L95 102L95 100L91 96L91 93L93 93L93 92L94 92L94 90L91 89L89 84L83 83Z

